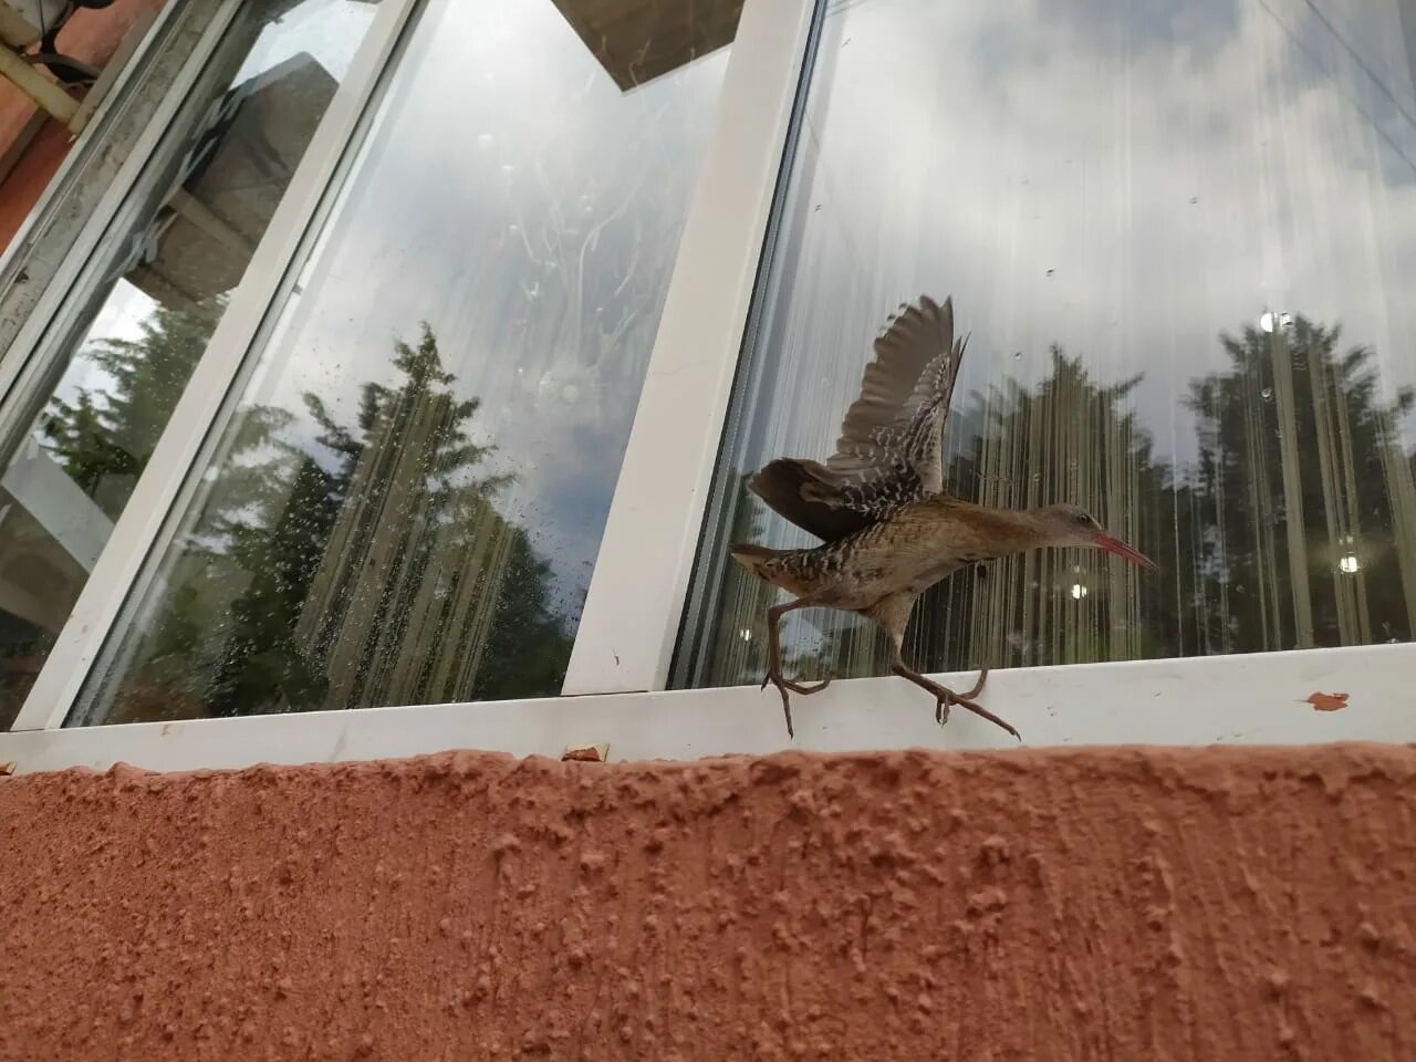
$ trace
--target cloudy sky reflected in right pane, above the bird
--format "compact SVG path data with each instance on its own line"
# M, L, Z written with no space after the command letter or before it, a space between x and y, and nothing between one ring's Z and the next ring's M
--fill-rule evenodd
M1388 394L1416 382L1398 6L838 4L767 351L800 362L818 401L763 395L772 426L743 467L834 442L871 337L920 292L953 293L973 330L960 394L1038 379L1058 341L1102 379L1144 372L1140 419L1180 462L1194 432L1178 398L1225 365L1216 334L1264 310L1341 321Z

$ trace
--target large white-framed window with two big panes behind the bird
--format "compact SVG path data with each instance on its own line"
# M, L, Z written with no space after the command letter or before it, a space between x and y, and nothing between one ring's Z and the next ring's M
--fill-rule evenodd
M973 331L954 489L1165 572L959 576L913 663L1011 666L1029 745L1416 738L1405 6L966 7L377 4L0 760L782 748L721 561L810 539L742 480L826 452L920 293ZM799 619L804 677L878 671ZM1012 742L918 694L796 742Z

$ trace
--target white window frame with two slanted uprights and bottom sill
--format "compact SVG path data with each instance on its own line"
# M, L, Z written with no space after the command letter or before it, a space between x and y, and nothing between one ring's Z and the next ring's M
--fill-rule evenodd
M794 742L772 690L666 688L813 20L824 0L743 6L562 697L62 729L418 1L379 4L14 731L0 733L0 762L13 760L20 772L115 762L173 770L453 748L558 756L568 746L606 742L613 759L1014 746L960 709L940 729L927 697L889 677L841 681L799 700ZM994 673L984 698L1032 746L1409 742L1416 741L1416 708L1406 705L1405 684L1413 674L1416 644L1365 646L1018 668ZM1306 700L1314 692L1345 692L1347 707L1315 711Z

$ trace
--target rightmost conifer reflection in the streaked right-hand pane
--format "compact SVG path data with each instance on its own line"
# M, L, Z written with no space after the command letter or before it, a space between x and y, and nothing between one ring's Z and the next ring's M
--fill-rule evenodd
M1191 385L1209 651L1410 637L1416 490L1372 351L1297 317L1222 336L1232 368ZM1348 571L1344 571L1347 566Z

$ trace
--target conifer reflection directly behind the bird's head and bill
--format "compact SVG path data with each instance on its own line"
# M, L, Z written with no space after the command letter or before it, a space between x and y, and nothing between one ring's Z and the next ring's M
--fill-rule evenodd
M1171 537L1147 518L1165 497L1165 470L1127 409L1140 375L1103 385L1080 358L1055 344L1049 354L1051 371L1035 388L1008 379L974 396L963 419L981 430L950 462L952 490L1003 508L1083 506L1174 571ZM929 590L909 651L935 670L1144 656L1160 641L1141 615L1148 598L1133 569L1092 551L1003 558Z

